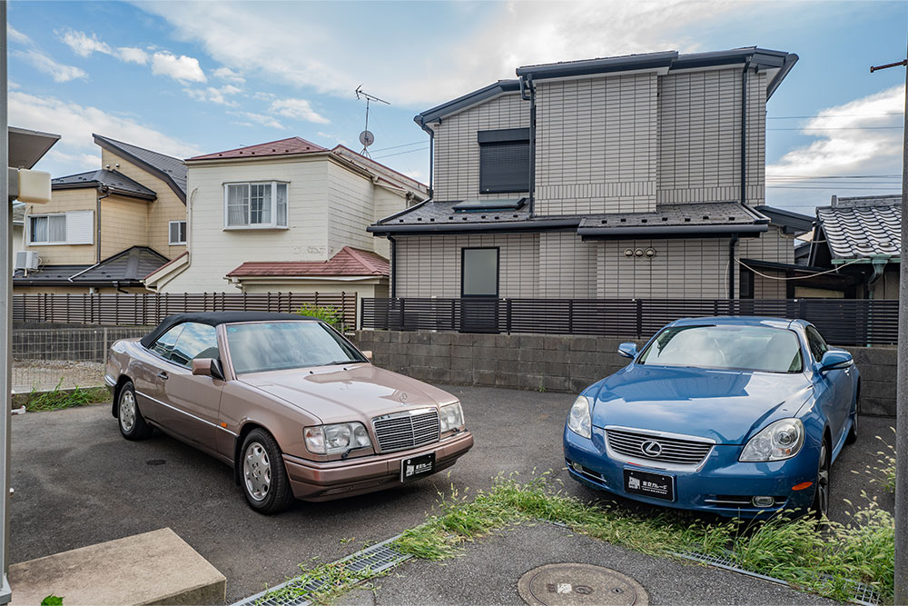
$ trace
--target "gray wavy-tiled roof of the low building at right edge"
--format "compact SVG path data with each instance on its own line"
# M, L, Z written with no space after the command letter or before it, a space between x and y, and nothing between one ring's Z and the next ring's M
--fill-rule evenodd
M835 206L816 209L816 218L834 259L901 255L901 196L873 198L877 199L839 198Z

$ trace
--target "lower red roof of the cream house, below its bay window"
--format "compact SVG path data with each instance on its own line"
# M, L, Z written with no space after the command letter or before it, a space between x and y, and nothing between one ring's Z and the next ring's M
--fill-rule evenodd
M390 263L380 254L344 246L328 261L248 262L227 274L229 278L329 277L390 275Z

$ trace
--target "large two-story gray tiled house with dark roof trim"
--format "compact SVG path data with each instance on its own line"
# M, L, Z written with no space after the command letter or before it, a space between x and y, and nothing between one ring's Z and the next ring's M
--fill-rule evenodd
M392 296L784 299L749 268L795 261L798 225L764 204L766 102L796 61L529 65L422 112L431 198L369 228L390 240Z

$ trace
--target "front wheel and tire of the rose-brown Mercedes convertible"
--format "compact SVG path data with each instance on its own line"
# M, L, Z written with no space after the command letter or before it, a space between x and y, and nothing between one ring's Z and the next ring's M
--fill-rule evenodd
M293 502L293 492L281 448L271 433L253 429L240 450L240 485L246 502L256 512L282 512Z

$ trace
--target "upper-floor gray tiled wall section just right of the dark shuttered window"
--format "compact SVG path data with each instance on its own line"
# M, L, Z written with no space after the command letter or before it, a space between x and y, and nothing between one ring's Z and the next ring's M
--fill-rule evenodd
M656 207L657 76L537 84L538 214Z

